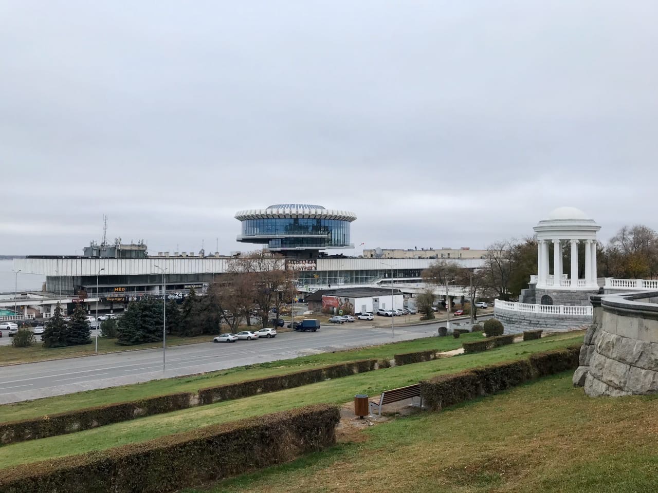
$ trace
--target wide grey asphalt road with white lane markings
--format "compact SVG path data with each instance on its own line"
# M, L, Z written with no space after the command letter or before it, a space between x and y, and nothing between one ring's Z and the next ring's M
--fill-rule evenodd
M135 350L0 368L0 404L63 395L93 388L116 387L155 379L192 375L241 365L307 356L437 334L442 321L391 329L322 325L318 332L284 332L273 339L209 342L172 346L163 351Z

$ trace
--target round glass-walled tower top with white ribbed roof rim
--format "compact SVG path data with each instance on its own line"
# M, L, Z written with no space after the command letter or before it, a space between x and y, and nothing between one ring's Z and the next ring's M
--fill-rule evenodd
M347 210L313 204L274 204L265 209L241 210L238 241L261 243L268 250L293 258L316 258L319 250L352 248L350 223L357 216Z

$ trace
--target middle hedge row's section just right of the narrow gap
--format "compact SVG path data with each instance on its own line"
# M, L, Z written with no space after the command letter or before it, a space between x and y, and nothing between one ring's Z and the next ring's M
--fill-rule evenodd
M351 363L340 363L320 368L307 369L288 373L287 375L276 375L264 379L246 380L236 383L227 383L218 387L201 388L199 390L199 405L213 404L222 400L240 399L243 397L276 392L286 388L301 387L311 383L322 382L326 379L347 377L355 373L363 373L374 368L374 362L370 360L359 360Z

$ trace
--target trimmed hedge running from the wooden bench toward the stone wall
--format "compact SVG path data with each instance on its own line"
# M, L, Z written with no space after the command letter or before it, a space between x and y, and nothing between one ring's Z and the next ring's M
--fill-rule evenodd
M420 382L420 394L431 410L495 394L526 381L578 367L580 346L533 354L527 360L474 368Z

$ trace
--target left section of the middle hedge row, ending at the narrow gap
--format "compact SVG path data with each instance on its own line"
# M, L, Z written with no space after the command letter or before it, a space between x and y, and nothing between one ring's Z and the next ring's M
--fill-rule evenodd
M38 440L48 436L74 433L99 426L128 421L136 417L168 413L195 405L190 392L119 402L76 411L46 415L0 424L0 443L10 444Z

